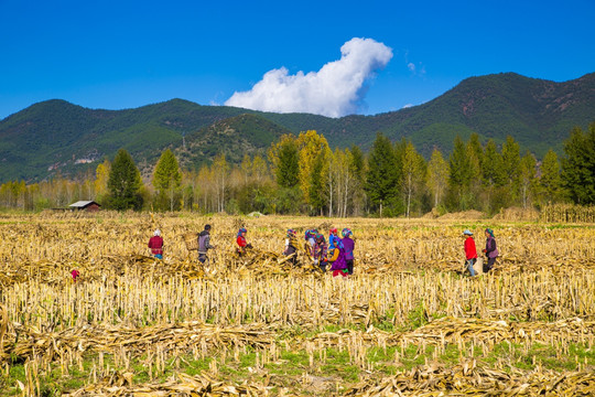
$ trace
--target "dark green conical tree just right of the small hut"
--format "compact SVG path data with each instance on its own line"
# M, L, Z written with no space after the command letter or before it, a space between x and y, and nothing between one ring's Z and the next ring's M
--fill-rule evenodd
M125 149L120 149L109 171L108 206L118 211L140 210L142 207L141 187L139 169L132 157Z

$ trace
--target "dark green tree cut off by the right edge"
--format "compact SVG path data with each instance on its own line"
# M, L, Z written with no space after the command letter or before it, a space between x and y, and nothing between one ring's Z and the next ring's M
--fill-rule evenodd
M576 204L595 203L595 122L587 133L580 127L564 141L562 181Z

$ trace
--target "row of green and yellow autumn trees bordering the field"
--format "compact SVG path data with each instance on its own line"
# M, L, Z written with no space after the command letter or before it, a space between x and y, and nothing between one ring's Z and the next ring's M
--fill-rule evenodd
M316 131L285 135L266 154L230 164L224 153L198 170L182 170L170 149L149 181L120 149L112 161L78 181L56 178L0 185L0 206L40 211L94 200L106 208L202 213L419 216L509 206L595 203L595 124L574 128L560 159L521 154L512 137L498 146L474 133L456 137L447 157L434 149L424 159L407 139L378 133L366 155L357 146L332 150Z

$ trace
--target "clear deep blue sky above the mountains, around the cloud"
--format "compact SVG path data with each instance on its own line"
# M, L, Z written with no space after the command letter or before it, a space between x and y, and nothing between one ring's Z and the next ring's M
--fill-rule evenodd
M339 111L398 110L470 76L564 82L595 72L594 20L594 0L0 0L0 119L52 98L105 109L223 105L270 71L322 75L354 37L391 56L366 69Z

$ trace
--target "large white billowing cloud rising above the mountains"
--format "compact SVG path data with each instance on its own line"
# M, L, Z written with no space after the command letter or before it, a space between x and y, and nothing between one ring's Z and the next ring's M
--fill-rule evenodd
M340 60L318 72L289 75L285 67L269 71L252 89L235 93L225 105L328 117L355 114L364 101L366 82L388 64L392 50L372 39L354 37L340 53Z

